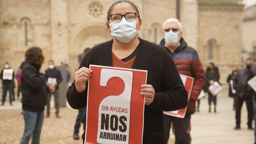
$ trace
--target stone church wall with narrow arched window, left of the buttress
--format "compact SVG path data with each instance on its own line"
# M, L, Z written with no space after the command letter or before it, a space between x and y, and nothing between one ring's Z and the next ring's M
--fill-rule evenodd
M43 50L46 61L51 54L50 0L0 0L0 68L6 61L15 72L31 46ZM27 21L28 43L25 45ZM47 63L43 65L47 67Z

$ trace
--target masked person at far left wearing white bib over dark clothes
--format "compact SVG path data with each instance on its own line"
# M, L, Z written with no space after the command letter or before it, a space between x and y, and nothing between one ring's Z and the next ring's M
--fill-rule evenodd
M4 105L6 95L7 95L7 90L9 91L9 102L10 105L12 106L12 87L13 87L13 79L14 79L14 71L12 68L10 68L9 63L6 62L4 64L4 69L1 71L0 74L0 79L2 79L2 88L3 88L3 97L2 97L2 104L1 106Z

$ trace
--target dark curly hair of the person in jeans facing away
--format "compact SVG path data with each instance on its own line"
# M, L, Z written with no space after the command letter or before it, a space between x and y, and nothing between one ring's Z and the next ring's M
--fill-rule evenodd
M41 66L45 58L39 47L31 47L26 51L25 58L32 65Z

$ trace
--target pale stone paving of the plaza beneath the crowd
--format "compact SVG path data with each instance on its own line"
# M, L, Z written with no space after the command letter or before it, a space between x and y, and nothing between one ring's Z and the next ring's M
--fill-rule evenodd
M16 101L14 106L0 107L0 144L18 144L23 131L24 120L21 115L21 104ZM252 144L254 131L247 129L247 111L244 103L241 114L241 130L233 130L235 126L233 99L227 97L223 90L217 99L217 113L208 113L207 97L200 102L200 112L192 115L191 144ZM53 104L51 104L53 106ZM82 140L73 140L74 123L78 111L61 108L61 118L55 118L55 109L51 109L50 118L45 118L40 144L82 144ZM80 127L79 136L83 133ZM175 136L171 132L168 144L174 144Z

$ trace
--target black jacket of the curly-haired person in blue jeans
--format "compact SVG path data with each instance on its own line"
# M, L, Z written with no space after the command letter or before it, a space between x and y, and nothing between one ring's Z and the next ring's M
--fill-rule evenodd
M26 63L21 73L22 109L42 112L47 102L45 75L39 74L39 67Z

